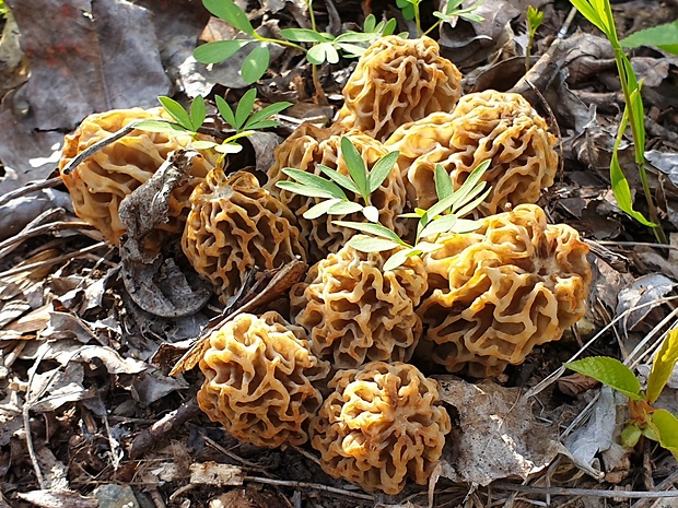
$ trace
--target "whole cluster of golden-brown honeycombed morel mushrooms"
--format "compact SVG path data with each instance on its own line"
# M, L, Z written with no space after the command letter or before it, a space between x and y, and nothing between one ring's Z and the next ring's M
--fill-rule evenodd
M163 226L183 232L183 251L223 303L253 267L315 263L292 287L289 316L243 314L212 331L198 401L238 439L309 441L328 474L387 494L407 479L425 484L451 432L436 382L422 373L484 378L521 364L583 317L592 279L577 232L547 224L535 204L558 168L547 122L517 94L461 96L461 75L439 49L428 37L379 39L343 88L335 123L302 125L276 150L264 186L245 170L226 175L206 153L171 196ZM67 138L60 167L159 115L135 108L89 117ZM372 204L401 237L411 225L399 215L436 201L436 164L458 188L491 160L483 176L491 192L474 212L481 227L444 234L441 249L385 271L394 251L348 246L355 232L332 223L341 217L304 218L319 200L276 182L288 179L285 167L322 175L324 164L346 175L342 135L367 168L399 151ZM96 152L62 175L78 215L119 245L120 202L188 143L136 130Z

